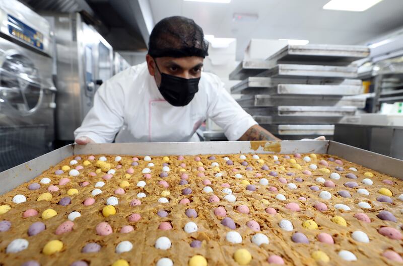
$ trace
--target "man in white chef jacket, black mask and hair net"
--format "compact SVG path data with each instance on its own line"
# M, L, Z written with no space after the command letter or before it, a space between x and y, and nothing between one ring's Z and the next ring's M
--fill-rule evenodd
M203 30L185 17L165 18L150 34L146 62L106 80L74 132L78 144L199 141L207 118L228 140L278 140L247 114L218 76L202 72Z

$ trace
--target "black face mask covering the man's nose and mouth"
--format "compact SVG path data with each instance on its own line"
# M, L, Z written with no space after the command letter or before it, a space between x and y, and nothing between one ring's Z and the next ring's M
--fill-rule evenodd
M174 75L161 73L161 84L158 87L162 97L173 106L186 106L198 92L198 81L200 78L183 78Z

